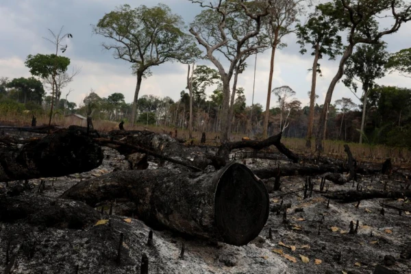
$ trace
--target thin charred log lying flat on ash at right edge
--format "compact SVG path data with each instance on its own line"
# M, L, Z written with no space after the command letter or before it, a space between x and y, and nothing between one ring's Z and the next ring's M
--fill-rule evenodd
M327 192L323 196L328 199L340 200L344 203L351 203L353 201L361 201L367 199L398 199L410 197L411 190L390 191L384 192L379 190L357 191L357 190L338 190Z

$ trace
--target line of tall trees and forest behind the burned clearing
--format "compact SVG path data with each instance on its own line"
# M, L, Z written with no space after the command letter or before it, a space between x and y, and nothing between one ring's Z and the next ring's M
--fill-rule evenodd
M375 84L387 71L398 71L404 76L410 73L410 49L389 54L382 40L410 20L411 5L406 1L329 1L316 5L306 23L301 23L299 16L312 6L308 0L188 1L203 8L188 27L181 16L161 3L152 8L121 5L105 14L92 31L106 38L103 47L112 51L114 58L131 64L136 75L134 100L127 105L119 99L119 93L104 99L92 92L84 100L87 110L77 111L99 114L104 119L127 119L132 125L138 121L186 127L190 137L192 130L221 132L223 141L229 140L232 132L262 138L284 132L286 136L306 138L310 147L315 136L319 152L325 138L389 143L389 136L407 134L407 107L399 113L395 109L390 109L390 115L382 113L389 109L388 101L393 101L393 96L405 100L409 90ZM392 25L382 29L378 18L386 13ZM301 107L289 86L272 86L275 53L286 47L284 36L290 33L297 34L301 54L309 52L313 56L310 105L306 107ZM68 58L58 56L58 49L64 53L67 47L62 46L62 38L73 38L71 34L60 34L53 36L51 42L56 51L48 55L49 60L29 55L26 61L32 75L52 79L50 113L54 100L56 104L62 100L56 82L68 65ZM252 55L267 49L271 49L271 68L266 107L247 106L244 90L237 86L238 77L247 69L247 60ZM338 71L329 84L324 103L319 104L316 77L321 77L320 61L325 56L339 60ZM151 75L153 66L164 62L188 65L188 92L182 91L177 102L169 97L139 98L142 80ZM209 62L214 68L196 66L198 62ZM360 111L347 98L332 104L334 88L341 79L361 100ZM206 98L206 89L214 85L217 88ZM392 94L388 96L386 90ZM275 108L270 108L271 96L277 99ZM393 123L393 119L398 123ZM397 134L392 133L395 131Z

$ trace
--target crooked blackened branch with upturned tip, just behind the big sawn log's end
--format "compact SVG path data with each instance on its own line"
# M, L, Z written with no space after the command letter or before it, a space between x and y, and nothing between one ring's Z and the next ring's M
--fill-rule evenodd
M280 132L277 135L266 138L265 140L241 140L239 142L226 142L219 147L217 155L221 158L227 159L229 153L233 149L243 149L245 147L249 147L251 149L260 150L264 147L275 145L279 152L286 155L288 159L292 160L292 162L297 163L299 160L298 155L290 151L290 149L287 149L286 146L284 146L282 142L280 142L281 137L282 132Z

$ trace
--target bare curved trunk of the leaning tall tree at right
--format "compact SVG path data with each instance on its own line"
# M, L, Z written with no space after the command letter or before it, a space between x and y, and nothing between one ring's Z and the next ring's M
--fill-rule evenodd
M354 43L350 43L347 46L347 49L345 49L343 57L340 60L340 64L338 65L338 71L336 75L334 76L334 78L332 79L331 83L329 84L327 94L325 95L324 108L323 108L323 111L321 112L319 126L317 128L316 140L315 140L315 150L316 150L316 153L318 154L324 150L323 138L325 136L324 134L325 118L326 118L325 116L327 115L327 110L325 108L325 105L329 105L331 103L332 93L334 92L334 88L336 87L336 84L341 79L341 77L343 77L344 75L345 62L347 62L349 56L351 56L351 54L353 53L354 45L355 45Z

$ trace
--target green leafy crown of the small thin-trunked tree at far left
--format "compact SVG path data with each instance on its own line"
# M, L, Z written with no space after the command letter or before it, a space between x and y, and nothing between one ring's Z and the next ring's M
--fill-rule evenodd
M34 76L47 78L50 75L60 75L67 71L70 59L55 54L28 55L25 65Z

